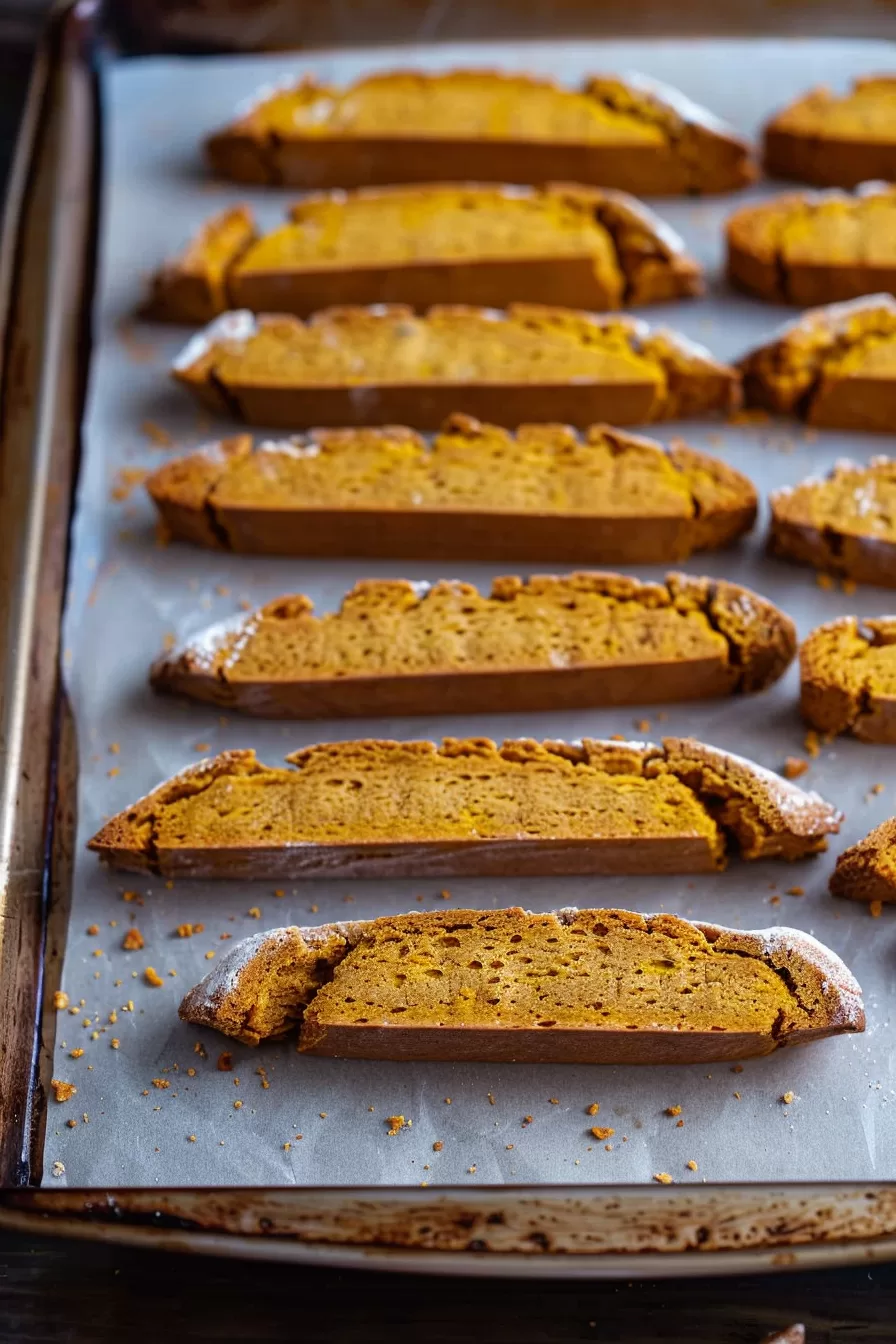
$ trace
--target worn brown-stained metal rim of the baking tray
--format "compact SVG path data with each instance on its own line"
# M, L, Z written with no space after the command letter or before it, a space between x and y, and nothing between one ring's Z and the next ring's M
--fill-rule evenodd
M46 129L52 108L56 118L67 120L70 99L78 97L79 126L91 136L82 172L93 172L98 155L98 97L91 82L89 48L97 36L98 11L93 0L56 0L50 15L28 93L26 116L19 133L16 161L0 238L0 321L12 324L17 285L13 273L27 270L21 263L34 245L24 237L27 210L34 204L35 183L40 169L55 175L62 161L59 138L50 141ZM94 99L91 122L85 128L85 95ZM55 99L55 101L54 101ZM71 118L73 124L75 118ZM63 142L64 144L64 142ZM69 179L71 184L71 179ZM63 183L64 185L64 183ZM87 188L87 181L81 181ZM54 223L59 212L71 208L63 190L54 194ZM85 230L78 239L82 265L91 254L94 239L86 230L95 226L95 211L89 218L83 210L78 223ZM67 286L67 300L78 300L78 317L83 323L90 308L89 271L85 285L74 296ZM59 277L51 270L50 282ZM48 294L46 316L54 340L40 348L40 363L34 370L35 386L28 403L36 407L34 461L30 466L30 504L40 503L51 481L47 462L40 469L38 456L48 448L52 411L59 409L60 355L66 331L60 329L58 293ZM69 336L71 328L67 329ZM8 359L9 331L3 355ZM64 363L64 358L62 360ZM0 363L0 372L4 372ZM5 374L8 375L8 363ZM81 388L83 391L83 388ZM64 403L63 403L64 405ZM69 470L74 474L78 454L78 427L81 398L70 398L70 418L62 449ZM5 448L5 445L4 445ZM56 452L59 445L56 444ZM8 468L8 461L0 466ZM71 492L56 492L56 513L62 509L52 532L55 554L56 640L58 620L64 591L64 555L67 523L70 520ZM46 504L46 497L43 500ZM46 520L44 520L46 521ZM24 554L24 552L23 552ZM19 575L20 578L26 575ZM34 575L31 575L34 579ZM15 575L0 575L7 587ZM5 597L5 591L3 593ZM21 629L34 628L39 606L38 586L31 582L26 597L24 616L31 621ZM46 610L46 609L44 609ZM27 663L26 663L27 665ZM17 664L21 668L21 660ZM15 679L13 679L15 681ZM32 878L30 886L0 891L0 914L8 915L15 903L17 913L31 899L31 938L38 935L40 962L32 977L26 977L26 989L32 1009L30 1020L19 1021L12 1040L11 1056L26 1070L30 1079L27 1105L21 1114L0 1098L0 1227L59 1236L113 1241L122 1245L154 1246L181 1253L232 1255L254 1259L275 1259L290 1263L321 1263L333 1267L367 1267L400 1273L438 1273L493 1277L574 1277L574 1278L642 1278L642 1277L696 1277L729 1273L767 1273L791 1267L821 1267L854 1265L866 1261L896 1259L896 1181L880 1183L763 1183L763 1184L707 1184L680 1188L643 1185L458 1185L419 1189L411 1187L314 1187L255 1189L251 1187L214 1188L144 1188L144 1189L66 1189L28 1184L32 1169L21 1156L31 1144L39 1152L39 1116L44 1105L44 1091L39 1079L36 1048L40 1039L43 995L44 1007L51 1001L51 968L58 950L52 939L47 942L48 868L58 876L64 871L66 836L71 816L59 817L58 792L66 797L66 781L56 781L60 738L59 722L64 706L58 684L58 672L43 681L44 710L52 708L52 723L44 724L51 754L40 763L43 778L36 785L43 793L43 810L32 810L26 821L30 841L38 843L48 853L46 837L54 829L52 863ZM0 695L9 691L21 695L19 684L7 684ZM27 719L17 723L24 743ZM64 746L64 743L63 743ZM0 816L7 827L16 817L17 775L12 775L3 761L0 774ZM64 771L63 771L64 773ZM70 813L69 808L69 813ZM52 820L56 820L54 828ZM40 827L40 835L36 831ZM62 823L62 824L60 824ZM0 832L0 839L3 833ZM7 848L0 844L0 866L11 863L12 847L20 837L9 835ZM39 914L35 925L35 911ZM16 949L11 939L0 938L0 970L9 969ZM46 1051L44 1051L46 1055ZM17 1154L17 1156L16 1156ZM39 1169L39 1161L34 1164ZM426 1212L430 1220L415 1227L414 1220ZM500 1216L498 1216L500 1215ZM599 1215L599 1216L598 1216ZM774 1215L774 1224L767 1220ZM435 1219L435 1231L431 1220ZM489 1223L489 1219L492 1222ZM557 1232L557 1220L570 1226ZM649 1235L645 1231L645 1220ZM173 1226L172 1226L173 1224ZM603 1241L572 1249L575 1236L592 1231L600 1224L611 1231ZM763 1226L764 1224L764 1226ZM506 1247L492 1245L488 1236L472 1232L480 1227L502 1228ZM704 1235L708 1234L708 1235ZM646 1236L646 1239L645 1239ZM439 1243L441 1242L441 1243ZM473 1243L473 1245L470 1245Z

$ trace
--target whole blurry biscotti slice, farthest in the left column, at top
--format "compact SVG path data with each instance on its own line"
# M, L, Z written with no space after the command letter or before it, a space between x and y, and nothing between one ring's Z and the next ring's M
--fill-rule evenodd
M643 195L733 191L750 145L704 108L643 75L579 89L496 70L305 78L265 91L206 144L232 181L368 187L408 181L582 181Z

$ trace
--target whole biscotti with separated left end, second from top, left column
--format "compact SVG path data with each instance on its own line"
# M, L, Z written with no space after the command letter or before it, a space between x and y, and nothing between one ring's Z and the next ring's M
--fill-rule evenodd
M701 292L678 234L634 196L454 183L306 196L261 238L244 207L223 211L156 274L149 312L206 323L231 308L308 317L330 304L600 310Z

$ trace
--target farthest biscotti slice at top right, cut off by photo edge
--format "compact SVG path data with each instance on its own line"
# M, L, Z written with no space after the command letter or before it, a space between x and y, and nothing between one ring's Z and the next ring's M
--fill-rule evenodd
M864 75L845 94L810 89L767 124L764 165L815 187L896 179L896 77Z

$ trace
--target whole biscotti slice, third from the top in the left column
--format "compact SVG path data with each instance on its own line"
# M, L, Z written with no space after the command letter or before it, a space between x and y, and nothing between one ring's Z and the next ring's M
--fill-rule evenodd
M633 425L740 396L735 370L676 332L537 304L329 308L308 323L239 309L193 336L172 372L218 414L290 429L438 429L458 405L497 425Z

